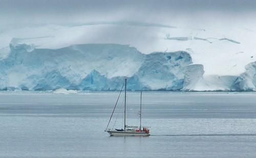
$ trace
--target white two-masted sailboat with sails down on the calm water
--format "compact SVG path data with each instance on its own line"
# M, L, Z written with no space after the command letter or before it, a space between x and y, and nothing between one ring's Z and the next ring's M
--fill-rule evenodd
M110 129L110 128L108 128L109 124L110 124L110 121L112 119L112 116L113 116L113 114L115 112L118 99L119 99L120 94L122 92L122 89L123 89L123 86L122 86L121 91L119 93L119 96L117 98L114 110L113 110L113 112L111 114L109 123L106 126L105 131L108 132L110 134L110 136L150 136L150 129L149 129L149 127L142 127L141 126L141 99L142 99L142 91L140 92L140 126L138 127L138 126L127 126L126 125L126 82L127 82L127 79L125 78L125 81L124 81L124 126L121 129Z

